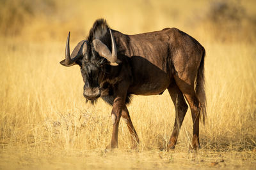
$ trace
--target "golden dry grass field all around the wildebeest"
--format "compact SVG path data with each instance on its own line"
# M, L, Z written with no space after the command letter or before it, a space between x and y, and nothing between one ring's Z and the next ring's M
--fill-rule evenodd
M211 1L29 2L0 1L0 8L7 9L0 18L0 169L255 169L253 1L228 1L228 8L218 11L223 20L212 18L212 8L219 8ZM119 148L105 152L111 107L101 99L95 106L86 104L79 67L59 64L67 32L74 48L99 17L127 34L178 27L205 47L208 107L198 152L188 152L190 111L175 150L166 152L175 118L167 91L134 96L128 106L140 138L138 150L131 150L121 121Z

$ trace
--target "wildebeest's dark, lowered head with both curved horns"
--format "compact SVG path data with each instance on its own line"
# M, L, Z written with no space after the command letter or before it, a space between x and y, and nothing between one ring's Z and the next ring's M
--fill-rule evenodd
M69 39L70 32L66 43L65 60L62 60L60 64L63 66L78 64L81 67L84 81L83 95L86 101L88 99L93 104L100 97L100 83L106 77L105 75L109 74L109 67L118 66L115 39L108 25L93 25L88 40L80 41L71 55ZM112 52L102 40L109 44L111 42Z

